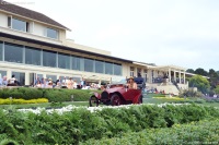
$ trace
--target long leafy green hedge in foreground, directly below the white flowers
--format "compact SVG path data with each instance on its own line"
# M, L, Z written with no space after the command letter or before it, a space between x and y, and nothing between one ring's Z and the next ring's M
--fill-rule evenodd
M19 144L79 144L90 138L118 137L127 132L145 129L171 128L174 124L219 118L212 107L131 106L90 112L81 108L59 116L0 110L0 141L13 140Z

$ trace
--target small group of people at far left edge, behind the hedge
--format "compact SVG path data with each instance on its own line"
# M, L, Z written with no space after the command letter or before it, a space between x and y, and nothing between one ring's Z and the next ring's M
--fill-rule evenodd
M20 83L19 81L15 78L15 75L12 74L11 78L7 78L7 76L4 75L3 77L1 77L0 74L0 86L19 86Z

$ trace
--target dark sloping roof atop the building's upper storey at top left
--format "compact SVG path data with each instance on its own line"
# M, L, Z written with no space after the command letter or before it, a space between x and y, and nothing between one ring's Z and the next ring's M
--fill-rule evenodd
M50 24L50 25L58 26L58 27L70 31L68 27L61 25L60 23L58 23L55 20L46 16L45 14L42 14L39 12L35 12L35 11L15 5L13 3L9 3L9 2L3 1L3 0L0 0L0 10L7 11L7 12L10 12L10 13L14 13L14 14L27 17L27 19L33 19L33 20L36 20L36 21L39 21L39 22L43 22L43 23L46 23L46 24Z

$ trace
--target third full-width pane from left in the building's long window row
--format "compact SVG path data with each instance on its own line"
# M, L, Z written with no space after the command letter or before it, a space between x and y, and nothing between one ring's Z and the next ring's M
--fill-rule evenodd
M43 50L43 65L56 68L57 67L56 55L57 52L55 51Z

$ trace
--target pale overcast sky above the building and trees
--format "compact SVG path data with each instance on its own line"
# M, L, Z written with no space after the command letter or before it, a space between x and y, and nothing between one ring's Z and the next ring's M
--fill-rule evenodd
M5 0L71 29L67 38L157 65L219 70L219 0Z

